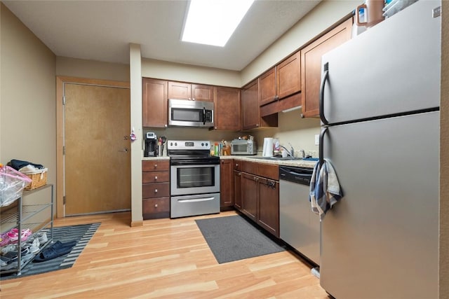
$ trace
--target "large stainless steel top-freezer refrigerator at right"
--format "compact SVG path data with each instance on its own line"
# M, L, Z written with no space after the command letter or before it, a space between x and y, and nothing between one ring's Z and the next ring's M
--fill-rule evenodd
M335 298L437 298L441 1L322 57L321 158L344 197L321 223Z

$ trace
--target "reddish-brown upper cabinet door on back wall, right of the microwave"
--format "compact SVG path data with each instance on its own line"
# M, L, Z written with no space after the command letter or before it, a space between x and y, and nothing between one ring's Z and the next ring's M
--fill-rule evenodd
M240 88L215 87L215 130L241 130Z

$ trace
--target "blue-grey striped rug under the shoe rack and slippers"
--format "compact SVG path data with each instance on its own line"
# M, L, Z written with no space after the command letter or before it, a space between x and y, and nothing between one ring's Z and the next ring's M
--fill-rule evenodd
M76 261L76 258L78 258L93 234L95 234L97 229L100 227L100 224L101 223L90 223L53 228L53 242L60 241L65 243L72 240L77 241L72 251L67 253L65 256L59 256L58 258L53 258L52 260L47 260L45 262L30 262L25 265L20 275L17 275L16 273L3 274L1 275L0 280L14 279L72 267ZM50 231L48 229L43 229L41 232L47 232L47 236L50 238ZM51 244L48 244L47 247L48 246L51 246Z

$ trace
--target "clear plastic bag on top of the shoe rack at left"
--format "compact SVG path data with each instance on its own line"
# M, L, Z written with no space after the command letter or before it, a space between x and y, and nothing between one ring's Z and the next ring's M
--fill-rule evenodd
M25 174L9 166L0 168L0 207L6 207L19 197L25 186L31 183L31 179Z

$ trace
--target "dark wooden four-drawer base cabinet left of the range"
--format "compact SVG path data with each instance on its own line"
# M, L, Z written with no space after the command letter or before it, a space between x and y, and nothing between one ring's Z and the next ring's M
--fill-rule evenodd
M142 161L143 219L170 217L170 161Z

